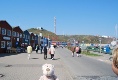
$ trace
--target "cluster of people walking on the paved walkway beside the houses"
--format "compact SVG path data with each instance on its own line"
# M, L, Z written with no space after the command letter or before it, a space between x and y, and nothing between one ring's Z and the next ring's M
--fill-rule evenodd
M35 48L35 51L36 53L38 53L38 50L39 50L39 45L36 45L36 48ZM45 44L44 48L41 47L41 54L42 54L42 51L44 52L44 59L46 60L47 59L47 54L49 53L50 56L51 56L51 59L54 60L54 54L55 54L55 48L54 48L54 45L51 45L50 48L47 47L47 44ZM30 55L32 53L32 47L31 45L29 45L27 47L27 53L28 53L28 59L30 59Z

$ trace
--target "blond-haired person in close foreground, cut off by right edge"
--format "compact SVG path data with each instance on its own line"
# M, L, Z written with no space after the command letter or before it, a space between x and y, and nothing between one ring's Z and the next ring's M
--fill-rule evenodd
M112 70L116 75L118 75L118 48L115 48L112 54L113 54Z

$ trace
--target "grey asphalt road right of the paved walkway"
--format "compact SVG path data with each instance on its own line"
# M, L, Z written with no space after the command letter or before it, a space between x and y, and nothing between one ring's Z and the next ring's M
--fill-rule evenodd
M111 64L86 56L74 57L65 48L58 48L57 53L74 80L118 80Z

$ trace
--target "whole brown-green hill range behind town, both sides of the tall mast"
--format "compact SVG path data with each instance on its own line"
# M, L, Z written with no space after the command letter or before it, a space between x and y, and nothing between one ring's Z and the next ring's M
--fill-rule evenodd
M68 41L69 39L75 39L78 42L83 42L84 43L96 43L99 44L100 41L99 39L101 38L101 43L103 44L109 44L113 40L113 38L104 38L104 37L98 37L98 36L93 36L93 35L56 35L53 32L50 32L45 29L36 29L36 28L31 28L28 29L29 32L33 32L35 34L40 34L46 38L50 38L53 41Z

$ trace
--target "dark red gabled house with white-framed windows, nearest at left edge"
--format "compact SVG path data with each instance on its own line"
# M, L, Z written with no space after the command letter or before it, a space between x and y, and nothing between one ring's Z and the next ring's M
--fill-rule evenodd
M11 25L5 21L0 21L0 53L5 53L8 48L11 48Z

